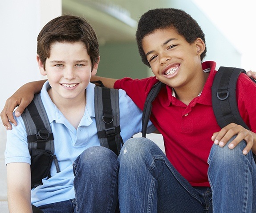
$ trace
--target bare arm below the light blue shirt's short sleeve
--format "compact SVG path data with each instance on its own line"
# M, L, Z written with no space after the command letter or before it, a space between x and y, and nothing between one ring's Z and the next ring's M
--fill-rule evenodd
M8 207L10 213L32 213L31 177L28 163L7 164Z

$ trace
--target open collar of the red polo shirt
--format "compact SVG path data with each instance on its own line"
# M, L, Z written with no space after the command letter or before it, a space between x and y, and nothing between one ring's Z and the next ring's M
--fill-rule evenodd
M216 63L214 61L206 61L202 63L202 68L204 72L210 72L206 83L203 87L203 91L198 95L197 103L209 105L211 106L211 86L213 83L214 76L216 74L215 71ZM166 86L167 96L168 96L168 103L167 105L170 106L171 104L180 105L182 104L178 99L176 99L175 91L172 87Z

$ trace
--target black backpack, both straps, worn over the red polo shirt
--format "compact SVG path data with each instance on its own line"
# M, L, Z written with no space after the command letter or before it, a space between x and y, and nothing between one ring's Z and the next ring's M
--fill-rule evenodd
M212 107L221 128L233 122L249 130L240 116L236 101L236 82L241 73L246 73L246 71L234 67L219 67L214 77L211 87ZM256 83L255 79L252 81ZM160 81L157 82L146 97L142 114L142 137L144 138L146 138L146 127L150 119L152 102L164 85ZM253 154L253 158L256 162L255 154Z

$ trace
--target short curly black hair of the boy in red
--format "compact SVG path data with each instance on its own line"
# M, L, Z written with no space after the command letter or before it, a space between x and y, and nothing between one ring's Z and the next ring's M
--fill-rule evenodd
M157 8L144 13L139 22L136 32L138 51L142 62L150 67L142 48L142 39L157 29L175 28L179 35L183 36L188 43L193 43L201 38L205 43L204 33L199 24L186 12L175 8ZM206 56L207 49L201 54L201 61Z

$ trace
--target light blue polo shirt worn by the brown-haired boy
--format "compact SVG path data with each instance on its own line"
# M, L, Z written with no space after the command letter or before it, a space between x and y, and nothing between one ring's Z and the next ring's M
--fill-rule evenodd
M40 206L75 198L73 187L73 167L75 159L87 148L100 146L97 136L97 127L94 113L94 87L89 83L86 88L85 113L77 130L68 122L57 106L50 99L46 82L41 90L41 99L45 106L50 125L54 134L55 154L59 161L60 173L56 173L54 163L51 167L52 177L43 180L43 185L31 190L31 202ZM142 111L126 95L119 90L120 126L123 141L142 131ZM30 164L27 134L24 122L20 117L16 118L17 126L7 131L7 144L5 150L5 163L25 162ZM148 132L155 128L150 123Z

